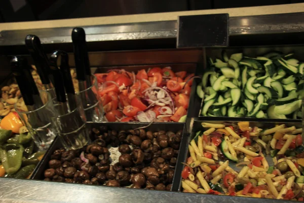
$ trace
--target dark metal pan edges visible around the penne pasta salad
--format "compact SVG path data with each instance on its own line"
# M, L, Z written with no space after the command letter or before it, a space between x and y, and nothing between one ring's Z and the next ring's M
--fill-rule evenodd
M203 131L208 129L208 128L204 128L201 125L202 122L217 123L217 124L223 124L223 123L237 124L240 121L244 121L243 118L239 118L239 120L236 120L236 121L225 121L225 120L220 121L220 120L215 120L215 119L214 120L204 120L204 119L195 120L195 119L192 119L191 128L189 129L189 136L187 136L186 140L184 140L185 143L183 143L184 146L185 146L184 151L179 152L181 162L183 162L183 163L186 162L186 159L189 156L188 146L189 146L189 143L191 142L191 140L196 136L196 132L198 132L200 130L202 130L202 132L203 132ZM254 121L250 121L250 126L257 126L259 128L262 128L262 129L272 128L272 127L275 127L275 125L280 125L280 124L285 124L288 127L290 127L290 126L295 126L296 128L301 128L302 127L302 124L300 122L261 122L261 121L258 121L258 119L255 119ZM272 161L272 158L269 155L265 156L265 158L267 159L268 162ZM178 163L179 165L177 167L183 168L183 164L181 162ZM233 162L230 162L229 166L234 168L234 170L236 170L236 171L240 171L240 169L241 169L241 168L236 167L235 165L233 165ZM182 177L180 176L179 183L178 183L178 185L179 185L178 191L179 192L182 192L181 181L182 181ZM175 183L175 184L177 184L177 183ZM200 194L200 195L213 195L213 194ZM218 195L213 195L213 196L218 196ZM219 195L219 196L224 196L224 195ZM236 198L236 201L238 199L240 199L240 197L238 197L238 196L237 197L230 196L230 198ZM249 201L251 201L253 197L246 197L246 199L247 198L248 198ZM256 198L254 198L254 199L256 199ZM263 201L266 201L266 200L272 200L273 201L273 199L265 199L265 198L263 198L262 200ZM278 200L278 201L282 202L283 200Z

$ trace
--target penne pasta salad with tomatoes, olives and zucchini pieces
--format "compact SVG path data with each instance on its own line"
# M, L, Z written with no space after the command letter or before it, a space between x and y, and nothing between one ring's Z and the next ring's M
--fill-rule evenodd
M302 128L202 126L189 145L183 192L304 200Z

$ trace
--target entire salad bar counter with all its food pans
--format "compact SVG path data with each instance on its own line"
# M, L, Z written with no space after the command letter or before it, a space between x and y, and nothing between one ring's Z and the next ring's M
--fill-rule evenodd
M303 17L1 32L0 202L303 201Z

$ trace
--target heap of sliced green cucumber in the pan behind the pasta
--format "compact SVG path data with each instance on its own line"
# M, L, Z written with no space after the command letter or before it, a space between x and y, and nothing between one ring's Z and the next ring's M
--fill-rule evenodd
M304 63L294 54L270 52L256 58L235 53L208 59L197 87L202 116L299 119L304 97Z

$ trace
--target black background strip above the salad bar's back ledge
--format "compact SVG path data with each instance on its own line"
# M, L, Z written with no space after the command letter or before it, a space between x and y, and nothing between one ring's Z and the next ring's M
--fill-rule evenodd
M267 6L304 0L1 0L0 22Z

